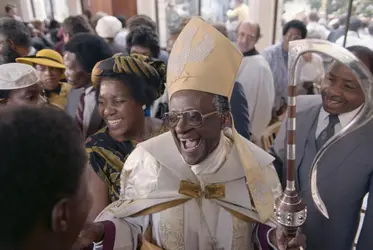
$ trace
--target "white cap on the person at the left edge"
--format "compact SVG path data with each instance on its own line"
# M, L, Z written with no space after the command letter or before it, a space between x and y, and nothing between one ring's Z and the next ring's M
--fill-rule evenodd
M39 82L36 70L23 63L7 63L0 65L0 89L23 89Z

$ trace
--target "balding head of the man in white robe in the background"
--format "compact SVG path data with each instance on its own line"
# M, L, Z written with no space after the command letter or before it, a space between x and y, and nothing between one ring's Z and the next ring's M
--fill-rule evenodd
M242 53L255 48L260 38L260 26L253 21L243 21L237 27L237 44Z

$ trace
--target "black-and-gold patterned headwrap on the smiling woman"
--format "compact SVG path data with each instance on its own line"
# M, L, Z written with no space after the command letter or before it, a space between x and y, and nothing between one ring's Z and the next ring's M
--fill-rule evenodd
M96 88L101 77L133 74L143 78L150 86L157 89L158 97L165 90L166 65L164 62L144 55L115 54L113 57L98 62L92 70L92 84Z

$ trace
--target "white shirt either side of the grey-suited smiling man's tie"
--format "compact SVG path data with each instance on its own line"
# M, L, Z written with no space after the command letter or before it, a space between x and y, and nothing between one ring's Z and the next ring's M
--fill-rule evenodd
M362 106L347 113L339 114L338 115L339 123L337 123L334 127L335 133L341 131L342 128L346 127L347 124L357 115L361 107ZM319 119L317 121L315 138L319 137L321 132L328 126L329 115L330 114L326 112L323 107L321 107L320 113L319 113Z

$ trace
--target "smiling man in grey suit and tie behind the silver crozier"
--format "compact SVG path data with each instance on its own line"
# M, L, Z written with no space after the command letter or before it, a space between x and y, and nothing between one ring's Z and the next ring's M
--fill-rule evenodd
M348 49L373 73L371 50L360 46ZM356 249L373 247L373 122L343 137L321 159L317 184L329 220L316 210L309 181L310 166L317 151L355 117L364 101L355 75L339 62L331 64L321 96L297 98L296 186L308 205L304 225L307 250L351 250L367 193L370 194L368 209ZM286 160L286 123L284 120L274 145L283 163Z

